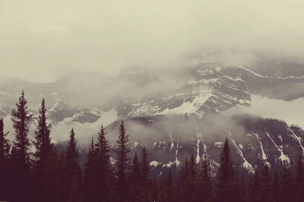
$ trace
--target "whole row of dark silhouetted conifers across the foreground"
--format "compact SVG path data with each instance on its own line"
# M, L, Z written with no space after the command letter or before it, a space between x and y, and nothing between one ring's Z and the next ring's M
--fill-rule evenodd
M296 174L284 163L280 173L270 174L265 165L250 176L249 183L240 174L226 138L220 154L216 173L205 153L197 163L194 155L186 158L178 179L174 180L171 169L165 176L149 178L148 153L143 147L141 154L128 154L129 135L124 122L119 127L118 146L113 149L117 161L112 164L106 132L101 126L97 140L92 137L87 153L85 169L80 166L80 151L73 128L67 146L58 150L51 142L47 124L45 100L39 110L35 139L30 140L29 122L32 115L22 91L16 109L12 110L15 129L14 141L10 142L0 119L0 200L36 202L285 202L304 201L303 161L299 156ZM35 151L30 150L33 144Z

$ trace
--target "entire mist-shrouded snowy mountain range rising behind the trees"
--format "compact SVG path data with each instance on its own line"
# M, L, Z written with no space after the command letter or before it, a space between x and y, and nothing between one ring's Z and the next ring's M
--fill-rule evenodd
M86 145L101 124L108 126L113 134L109 139L115 142L117 120L127 119L138 128L144 126L136 132L131 124L127 132L133 147L149 148L151 165L178 167L192 152L199 160L206 150L216 167L220 146L228 135L236 163L252 171L256 165L275 165L279 160L293 163L303 152L304 132L284 121L235 111L259 105L252 103L254 96L286 102L304 97L303 84L304 62L290 56L240 49L201 51L172 67L128 66L117 77L69 72L52 83L6 78L0 83L0 117L9 120L24 89L34 114L32 129L45 97L56 142L67 138L67 128L78 126L83 128L79 133Z

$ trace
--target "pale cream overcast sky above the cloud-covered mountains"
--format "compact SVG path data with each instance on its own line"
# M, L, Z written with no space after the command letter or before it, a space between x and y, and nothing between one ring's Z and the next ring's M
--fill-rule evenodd
M294 0L0 0L0 76L116 75L200 47L303 51L303 11Z

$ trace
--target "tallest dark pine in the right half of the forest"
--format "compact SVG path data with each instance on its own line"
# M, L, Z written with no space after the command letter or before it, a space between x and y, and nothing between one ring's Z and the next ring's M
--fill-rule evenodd
M232 187L234 177L234 162L231 157L231 148L226 138L221 154L216 183L216 201L226 202L232 200Z

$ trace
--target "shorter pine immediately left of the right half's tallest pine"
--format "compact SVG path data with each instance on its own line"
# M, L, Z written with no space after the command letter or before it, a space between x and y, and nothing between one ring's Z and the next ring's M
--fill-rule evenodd
M201 169L198 177L196 195L197 201L211 201L213 196L211 166L207 153L204 154L204 157L201 160Z

